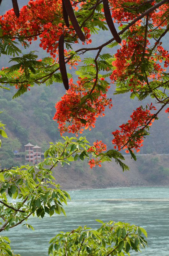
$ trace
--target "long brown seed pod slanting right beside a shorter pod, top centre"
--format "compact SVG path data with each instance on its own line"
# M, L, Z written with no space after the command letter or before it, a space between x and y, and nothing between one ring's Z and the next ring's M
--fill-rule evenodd
M66 7L66 11L69 15L70 21L72 23L73 28L75 29L77 36L79 37L79 39L84 42L85 41L85 35L82 32L82 29L79 26L79 23L76 19L76 16L74 14L73 8L70 4L70 0L63 0L64 5Z

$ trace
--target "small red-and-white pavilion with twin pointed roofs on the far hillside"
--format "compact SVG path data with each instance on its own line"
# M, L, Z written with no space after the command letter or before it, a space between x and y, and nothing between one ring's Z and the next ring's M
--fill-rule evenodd
M41 159L41 148L36 145L32 145L31 143L28 143L26 145L24 145L25 147L25 160L26 162L32 162L32 164L37 164L38 162L40 162Z

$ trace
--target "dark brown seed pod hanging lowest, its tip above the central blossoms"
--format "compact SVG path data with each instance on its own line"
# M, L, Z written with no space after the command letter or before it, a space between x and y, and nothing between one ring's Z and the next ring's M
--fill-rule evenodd
M68 90L69 81L68 81L66 65L64 61L64 35L63 34L59 37L58 52L59 52L59 68L62 76L63 85L64 85L64 88Z

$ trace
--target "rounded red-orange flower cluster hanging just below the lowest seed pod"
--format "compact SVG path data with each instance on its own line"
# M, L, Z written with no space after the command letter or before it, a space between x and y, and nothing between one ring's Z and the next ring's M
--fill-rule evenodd
M96 117L104 116L103 112L107 105L109 108L112 107L111 99L107 99L105 93L94 89L89 95L89 88L84 85L85 81L86 78L79 77L77 84L73 84L73 80L70 79L70 89L55 105L56 113L53 119L57 120L61 135L63 132L82 133L83 128L95 127Z

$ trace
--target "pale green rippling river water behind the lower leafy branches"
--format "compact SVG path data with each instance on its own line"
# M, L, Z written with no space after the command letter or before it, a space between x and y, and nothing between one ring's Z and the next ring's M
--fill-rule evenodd
M149 247L130 255L169 255L169 187L130 187L69 191L71 202L64 215L31 217L26 226L4 231L11 249L22 256L48 256L48 242L60 231L71 231L79 225L99 228L95 219L129 222L145 228Z

